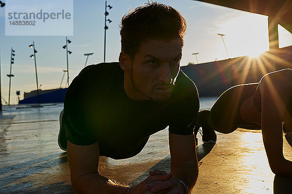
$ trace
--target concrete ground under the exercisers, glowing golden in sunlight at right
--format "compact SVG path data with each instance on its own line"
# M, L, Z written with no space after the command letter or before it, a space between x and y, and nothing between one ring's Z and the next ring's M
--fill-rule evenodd
M210 108L214 98L201 100ZM0 115L0 194L74 194L66 152L57 145L62 104L4 106ZM137 184L151 169L169 171L167 129L152 135L137 156L100 159L102 175ZM260 131L217 133L215 145L198 135L199 178L192 194L290 194L292 178L270 170ZM292 147L284 138L284 155Z

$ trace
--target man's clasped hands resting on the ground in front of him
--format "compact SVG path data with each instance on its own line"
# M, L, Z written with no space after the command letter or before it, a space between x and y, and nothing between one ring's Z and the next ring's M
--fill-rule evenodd
M185 194L183 185L172 174L155 169L149 177L131 189L130 194Z

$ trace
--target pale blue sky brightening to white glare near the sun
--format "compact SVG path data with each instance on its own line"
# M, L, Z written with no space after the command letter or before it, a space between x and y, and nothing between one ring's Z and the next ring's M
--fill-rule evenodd
M4 0L2 0L5 2ZM29 3L30 0L27 0ZM52 1L44 1L48 6ZM106 62L118 61L120 52L119 25L122 16L146 0L108 0L112 6L108 9L106 39ZM218 33L224 34L223 40L230 58L244 55L256 55L269 49L267 16L252 14L226 7L212 5L195 0L160 0L176 8L186 19L187 32L184 36L183 58L181 65L224 60L227 58L223 41ZM6 4L9 0L6 0ZM31 4L33 6L33 4ZM103 62L104 57L104 0L73 0L73 35L68 49L69 81L82 70L85 64L85 53L93 52L87 64ZM52 29L54 31L54 29ZM58 88L67 69L65 35L52 36L7 36L5 35L5 7L0 8L0 84L1 95L8 101L10 70L10 50L16 51L15 64L12 66L11 104L17 103L16 91L20 91L20 99L24 92L36 90L35 64L29 56L33 50L28 47L35 41L37 49L38 84L41 89ZM279 27L279 45L292 45L292 34ZM64 78L62 87L65 87ZM3 101L2 101L3 102ZM4 104L4 103L3 103Z

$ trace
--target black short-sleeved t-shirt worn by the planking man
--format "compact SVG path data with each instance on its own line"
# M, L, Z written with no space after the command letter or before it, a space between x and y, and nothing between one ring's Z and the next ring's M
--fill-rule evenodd
M63 123L71 143L86 146L98 141L100 156L125 159L138 154L151 134L167 126L174 134L192 134L199 106L197 88L182 71L169 100L137 101L124 90L119 63L102 63L85 67L72 81Z

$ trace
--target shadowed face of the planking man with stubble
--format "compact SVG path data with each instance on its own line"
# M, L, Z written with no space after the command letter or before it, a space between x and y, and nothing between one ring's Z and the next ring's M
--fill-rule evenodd
M182 58L181 39L142 42L131 63L134 90L144 99L164 101L171 96Z

